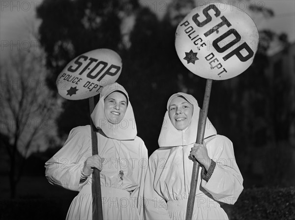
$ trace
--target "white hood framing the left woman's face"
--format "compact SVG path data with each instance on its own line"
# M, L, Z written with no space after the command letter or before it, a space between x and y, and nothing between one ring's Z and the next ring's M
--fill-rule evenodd
M128 104L122 120L118 124L111 124L104 114L104 99L115 91L124 93L127 97ZM102 89L100 99L91 113L91 118L95 127L100 128L108 138L117 140L133 140L137 135L134 113L128 93L124 87L118 83L106 85Z

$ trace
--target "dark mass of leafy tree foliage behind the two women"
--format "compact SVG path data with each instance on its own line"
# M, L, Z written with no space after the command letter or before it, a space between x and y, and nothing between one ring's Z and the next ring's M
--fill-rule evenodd
M38 9L42 19L41 43L52 71L52 88L62 68L74 57L97 48L119 53L123 68L118 83L130 95L138 126L149 154L157 147L166 103L170 95L182 91L194 95L202 107L206 80L190 73L175 51L177 24L195 1L173 1L163 20L137 0L45 0ZM269 9L251 8L265 17ZM130 33L123 33L124 19L134 17ZM125 40L125 37L128 40ZM279 146L290 136L294 110L288 107L292 94L289 77L273 77L267 54L274 38L288 46L286 35L260 32L259 50L244 73L226 81L213 82L208 117L219 134L235 144L237 161L244 173L251 169L253 149L269 143ZM258 42L257 42L258 43ZM279 65L279 64L278 64ZM278 66L277 69L281 71ZM279 108L282 106L283 108ZM78 125L89 124L88 101L66 101L59 118L60 134ZM293 116L292 116L293 115ZM249 150L250 149L250 150Z

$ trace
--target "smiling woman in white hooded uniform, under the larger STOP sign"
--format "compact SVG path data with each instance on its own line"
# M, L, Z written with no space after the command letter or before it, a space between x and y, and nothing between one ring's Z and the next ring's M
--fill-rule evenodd
M159 146L148 162L144 199L145 216L150 220L184 220L193 160L202 169L193 209L193 220L228 219L220 202L234 204L243 190L232 142L217 135L207 119L204 144L196 144L199 121L197 100L188 94L170 97Z

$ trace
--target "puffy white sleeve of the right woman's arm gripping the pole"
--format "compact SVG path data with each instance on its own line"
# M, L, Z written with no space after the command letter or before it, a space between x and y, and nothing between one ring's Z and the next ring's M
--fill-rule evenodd
M230 139L219 136L215 147L214 158L211 159L216 165L208 182L202 180L202 187L214 199L234 204L243 190L243 177L236 164L233 143Z

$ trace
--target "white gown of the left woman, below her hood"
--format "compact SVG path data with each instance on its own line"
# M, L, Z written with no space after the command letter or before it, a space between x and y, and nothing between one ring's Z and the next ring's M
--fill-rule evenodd
M139 137L121 141L111 139L101 130L97 139L98 155L105 158L100 172L104 220L143 219L142 197L148 163L143 140ZM67 220L92 219L92 176L85 183L79 183L84 162L91 152L90 126L76 127L64 146L45 164L45 175L51 184L80 191L71 203ZM119 170L124 171L123 180L118 178Z

